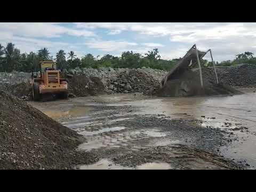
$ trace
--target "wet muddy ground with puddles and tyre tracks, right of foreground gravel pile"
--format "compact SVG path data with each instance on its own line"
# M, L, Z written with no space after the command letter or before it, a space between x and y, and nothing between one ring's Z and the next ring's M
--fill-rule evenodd
M256 89L245 89L233 97L138 93L29 103L85 137L77 150L91 159L76 169L254 169Z

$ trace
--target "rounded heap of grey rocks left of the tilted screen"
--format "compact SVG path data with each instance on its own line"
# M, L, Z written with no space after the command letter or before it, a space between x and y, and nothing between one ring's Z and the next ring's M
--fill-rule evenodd
M139 70L127 70L120 73L117 78L110 79L110 90L114 93L154 94L159 89L159 82L153 76Z

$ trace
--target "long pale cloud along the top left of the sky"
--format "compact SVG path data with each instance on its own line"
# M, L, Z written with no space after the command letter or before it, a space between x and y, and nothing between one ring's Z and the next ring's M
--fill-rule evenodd
M24 37L60 37L63 34L72 36L95 36L93 31L71 29L56 23L0 23L0 31Z

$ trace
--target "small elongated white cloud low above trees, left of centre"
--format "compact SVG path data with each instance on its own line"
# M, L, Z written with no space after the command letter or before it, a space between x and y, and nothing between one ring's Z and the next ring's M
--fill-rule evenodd
M132 47L138 45L137 43L125 42L125 41L91 41L84 43L90 48L98 49L101 51L119 51L126 47Z

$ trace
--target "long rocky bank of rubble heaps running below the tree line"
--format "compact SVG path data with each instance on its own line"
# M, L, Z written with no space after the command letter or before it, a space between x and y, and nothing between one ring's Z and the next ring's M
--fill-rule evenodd
M203 68L203 79L215 83L213 68ZM135 93L155 94L167 71L113 68L76 68L68 71L70 93L79 97L102 93ZM234 67L218 67L219 82L230 86L254 86L256 84L256 66L238 65ZM0 90L7 91L19 98L30 97L28 80L30 73L0 73Z

